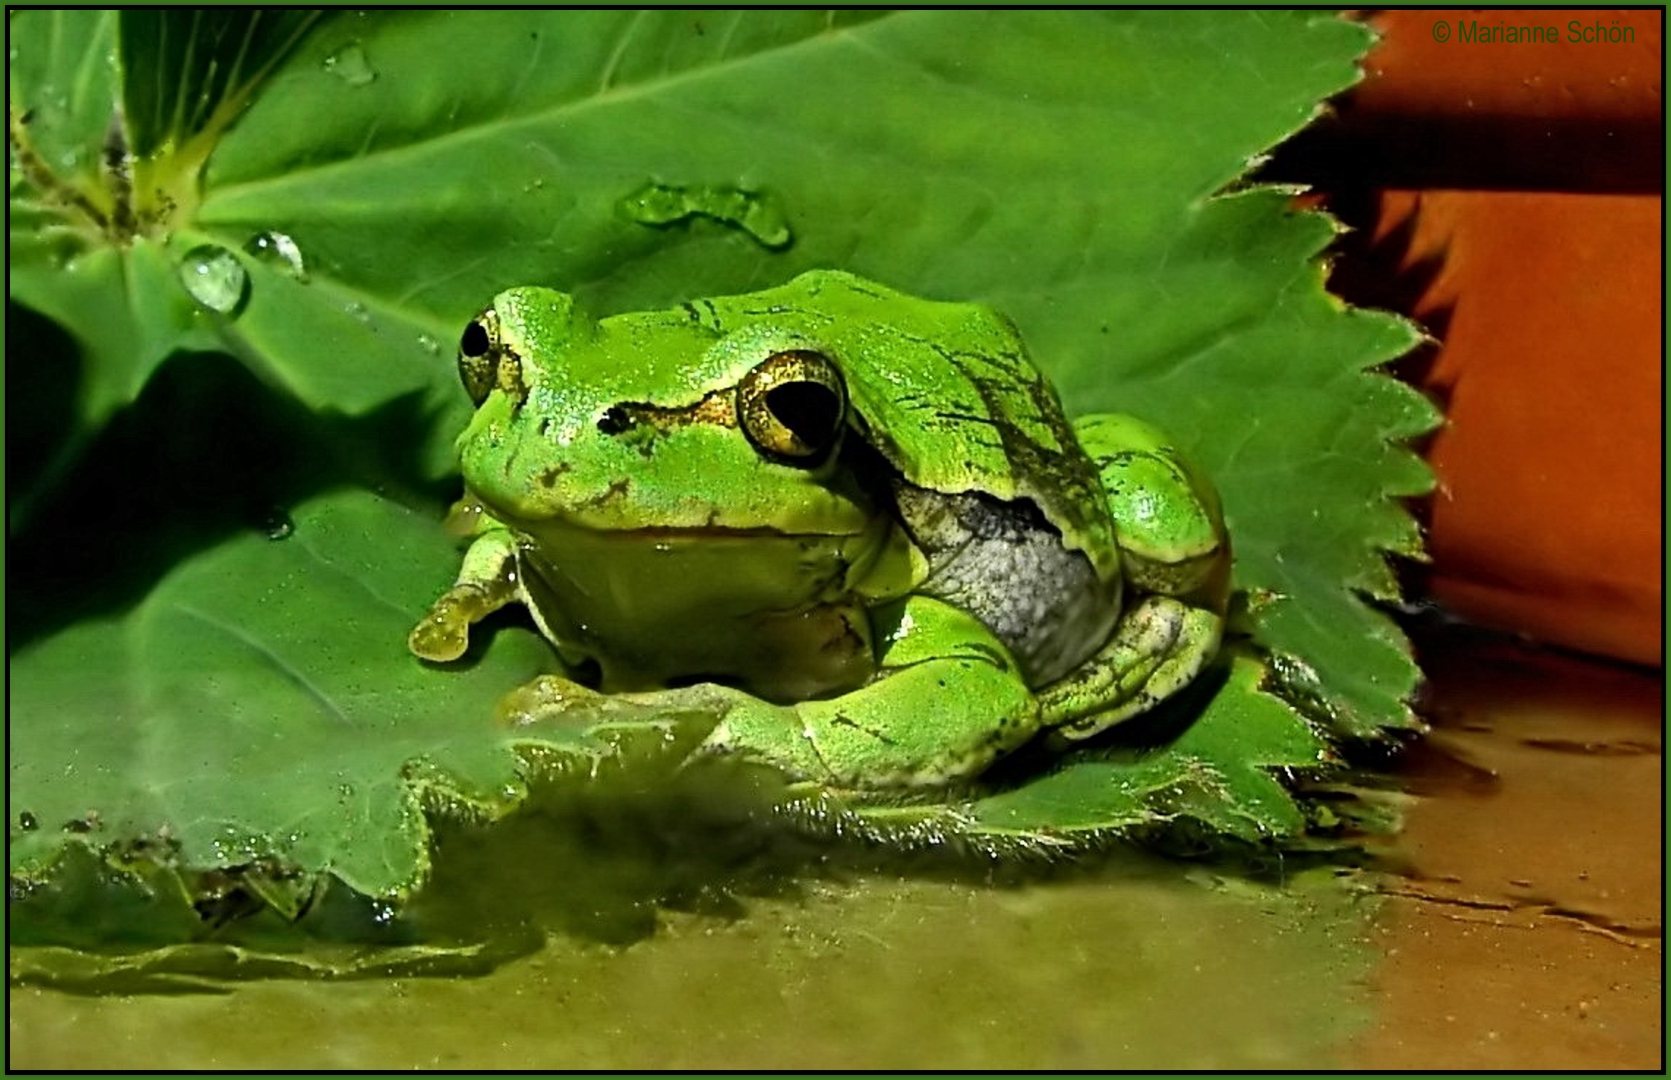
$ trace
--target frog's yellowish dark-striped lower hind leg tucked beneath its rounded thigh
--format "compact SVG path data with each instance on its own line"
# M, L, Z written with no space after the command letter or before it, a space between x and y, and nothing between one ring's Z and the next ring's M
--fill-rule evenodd
M1088 739L1153 709L1218 654L1223 617L1176 597L1143 597L1078 670L1039 690L1044 726Z

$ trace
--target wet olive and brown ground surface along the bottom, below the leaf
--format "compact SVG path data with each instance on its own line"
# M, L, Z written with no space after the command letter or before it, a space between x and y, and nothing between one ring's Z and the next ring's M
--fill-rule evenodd
M1454 637L1387 873L832 873L475 978L10 995L13 1068L1658 1068L1663 680Z

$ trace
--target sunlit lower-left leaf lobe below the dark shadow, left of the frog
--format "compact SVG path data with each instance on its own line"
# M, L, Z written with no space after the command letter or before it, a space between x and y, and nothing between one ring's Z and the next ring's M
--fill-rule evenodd
M236 537L122 617L12 659L13 873L40 876L69 834L398 894L426 871L423 796L485 814L521 797L481 721L548 664L538 639L506 630L468 670L426 669L404 635L448 585L441 528L353 492L292 528Z

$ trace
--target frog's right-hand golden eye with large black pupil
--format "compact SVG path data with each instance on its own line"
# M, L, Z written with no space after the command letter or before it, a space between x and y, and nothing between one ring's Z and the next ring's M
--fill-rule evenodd
M737 385L737 420L755 446L790 465L819 465L841 443L847 386L822 353L772 353Z

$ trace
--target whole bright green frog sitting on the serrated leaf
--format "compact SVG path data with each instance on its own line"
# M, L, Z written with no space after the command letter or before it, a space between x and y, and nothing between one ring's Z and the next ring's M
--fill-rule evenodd
M1218 650L1213 488L1138 420L1069 425L986 306L836 271L605 319L515 288L458 366L470 547L409 645L456 659L523 604L568 675L513 724L700 685L705 751L932 786L1141 714Z

